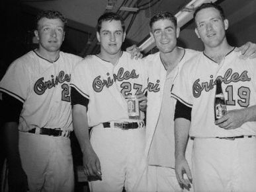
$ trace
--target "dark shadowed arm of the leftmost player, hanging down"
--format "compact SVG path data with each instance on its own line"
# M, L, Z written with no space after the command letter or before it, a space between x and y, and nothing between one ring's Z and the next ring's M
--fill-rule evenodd
M8 185L10 191L27 191L28 181L22 169L21 156L19 153L19 115L22 103L2 93L1 113L3 116L3 138L7 154Z

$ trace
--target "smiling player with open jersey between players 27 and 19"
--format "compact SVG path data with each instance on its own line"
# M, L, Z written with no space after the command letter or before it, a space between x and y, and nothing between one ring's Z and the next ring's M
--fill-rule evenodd
M171 13L156 13L149 25L159 52L144 57L149 76L145 152L147 160L142 166L144 176L140 177L134 191L183 191L174 169L173 118L176 100L171 98L170 90L183 63L199 52L177 47L179 28ZM253 50L253 45L250 47L251 50L247 51L251 54L255 48ZM191 151L192 140L189 139L186 154L189 160ZM189 191L192 191L192 187L190 188Z

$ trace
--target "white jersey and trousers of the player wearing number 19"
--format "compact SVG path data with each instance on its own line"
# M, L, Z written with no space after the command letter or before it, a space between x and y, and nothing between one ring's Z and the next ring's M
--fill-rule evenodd
M231 51L218 65L204 53L183 65L172 96L192 107L190 136L194 137L192 176L195 191L256 191L256 139L216 137L256 135L256 122L226 130L214 124L216 78L222 79L227 109L256 104L256 59L239 59Z

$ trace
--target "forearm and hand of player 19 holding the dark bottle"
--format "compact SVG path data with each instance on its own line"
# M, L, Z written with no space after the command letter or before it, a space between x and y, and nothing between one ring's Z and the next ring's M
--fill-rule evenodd
M256 121L256 106L228 111L224 117L215 121L215 124L223 129L236 129L248 121Z

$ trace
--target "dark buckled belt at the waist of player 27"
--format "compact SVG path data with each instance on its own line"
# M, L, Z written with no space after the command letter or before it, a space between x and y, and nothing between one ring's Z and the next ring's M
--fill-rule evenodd
M105 128L105 129L140 129L145 127L144 121L107 121L100 123L93 128Z

